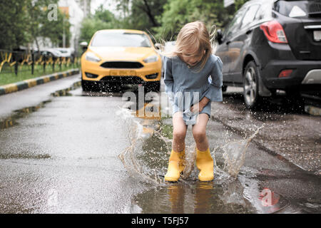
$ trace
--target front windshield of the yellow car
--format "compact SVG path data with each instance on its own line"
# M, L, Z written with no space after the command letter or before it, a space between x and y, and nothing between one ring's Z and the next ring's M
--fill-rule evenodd
M93 37L91 46L106 46L106 47L151 47L151 42L145 34L141 33L115 33L115 32L100 32Z

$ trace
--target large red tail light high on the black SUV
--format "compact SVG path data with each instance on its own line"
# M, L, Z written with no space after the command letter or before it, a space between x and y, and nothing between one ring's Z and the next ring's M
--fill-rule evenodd
M267 21L260 25L267 39L273 43L287 43L287 37L278 21Z

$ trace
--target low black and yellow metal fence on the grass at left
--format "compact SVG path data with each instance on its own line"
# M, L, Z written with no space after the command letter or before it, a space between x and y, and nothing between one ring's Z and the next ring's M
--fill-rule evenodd
M35 71L46 72L61 70L63 66L77 68L80 66L80 57L55 57L38 51L9 51L0 49L0 76L1 74Z

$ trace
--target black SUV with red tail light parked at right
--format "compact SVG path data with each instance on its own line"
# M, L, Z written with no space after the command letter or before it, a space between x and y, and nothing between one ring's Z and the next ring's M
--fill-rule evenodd
M243 86L248 108L277 90L321 90L321 0L248 1L217 40L223 89Z

